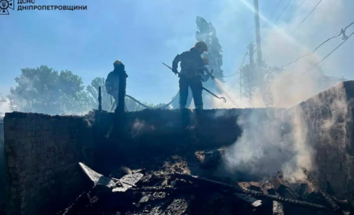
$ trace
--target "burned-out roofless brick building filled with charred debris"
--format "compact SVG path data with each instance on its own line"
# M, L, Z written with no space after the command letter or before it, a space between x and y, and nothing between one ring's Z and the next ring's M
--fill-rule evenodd
M84 117L6 113L6 212L348 214L354 189L353 98L354 82L343 82L290 109L204 110L202 119L189 110L187 131L179 110L123 117L98 110ZM296 115L304 120L295 120L294 127ZM297 141L311 148L311 157L292 158L309 159L312 168L297 167L303 177L294 181L278 169L277 160L269 163L274 165L268 176L247 175L247 168L226 174L225 157L250 120L278 126L280 146L287 148L295 144L288 141L290 134L301 133ZM264 147L284 154L281 162L292 156L266 139Z

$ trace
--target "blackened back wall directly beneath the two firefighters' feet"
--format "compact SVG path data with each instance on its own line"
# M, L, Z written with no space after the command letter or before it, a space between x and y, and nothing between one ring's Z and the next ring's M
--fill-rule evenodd
M144 157L175 153L186 148L220 148L235 143L241 130L237 124L240 112L256 109L203 110L142 110L128 112L125 118L114 113L102 113L98 124L100 147L97 168L137 162ZM97 117L97 115L96 115ZM189 119L187 129L182 129ZM109 152L109 153L107 153ZM100 170L104 171L104 170Z

